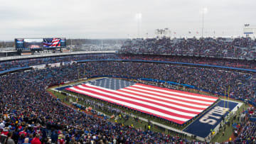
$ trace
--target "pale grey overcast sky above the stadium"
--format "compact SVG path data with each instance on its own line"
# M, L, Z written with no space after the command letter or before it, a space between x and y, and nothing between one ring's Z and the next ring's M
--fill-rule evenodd
M0 40L134 38L136 13L141 36L154 36L156 28L199 36L204 7L205 35L242 35L245 23L256 26L255 6L255 0L1 0Z

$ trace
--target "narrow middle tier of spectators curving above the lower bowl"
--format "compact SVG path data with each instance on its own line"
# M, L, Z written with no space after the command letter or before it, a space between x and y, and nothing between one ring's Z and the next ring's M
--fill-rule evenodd
M28 67L33 65L46 65L55 62L70 62L76 60L155 60L166 62L186 62L202 65L218 65L225 67L238 67L256 70L255 60L233 60L213 57L190 57L174 55L130 55L130 54L98 54L98 55L70 55L63 57L45 57L29 60L12 60L0 63L0 71L17 67Z

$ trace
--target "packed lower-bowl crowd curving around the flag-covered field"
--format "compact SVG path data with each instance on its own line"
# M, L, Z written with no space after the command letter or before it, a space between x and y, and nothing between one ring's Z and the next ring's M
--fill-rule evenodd
M102 59L107 57L103 56ZM84 57L81 56L81 59ZM46 59L36 59L42 64ZM50 58L50 60L52 60ZM56 58L56 61L73 60ZM36 62L33 63L36 65ZM18 62L22 64L22 62ZM25 62L24 62L25 63ZM79 74L79 76L78 76ZM46 87L78 77L112 75L128 78L150 78L189 84L211 93L255 101L256 75L236 71L162 65L144 62L85 62L43 70L5 74L0 79L0 129L15 143L183 143L186 140L164 133L142 131L122 123L95 118L64 105L46 92ZM7 132L10 133L7 133ZM12 135L12 136L11 136ZM49 141L51 140L51 142ZM9 140L11 141L11 140ZM11 142L10 142L11 143Z

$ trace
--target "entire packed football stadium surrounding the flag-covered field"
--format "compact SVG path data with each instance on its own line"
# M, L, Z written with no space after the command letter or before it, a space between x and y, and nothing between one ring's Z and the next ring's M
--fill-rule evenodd
M256 28L143 37L141 18L134 38L0 42L0 144L255 143Z

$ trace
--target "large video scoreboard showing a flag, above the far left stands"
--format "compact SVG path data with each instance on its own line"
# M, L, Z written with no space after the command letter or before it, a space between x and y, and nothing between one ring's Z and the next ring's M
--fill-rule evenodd
M66 47L65 38L16 38L16 50L44 50Z

